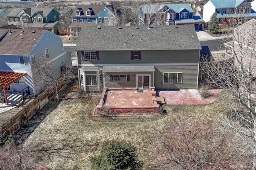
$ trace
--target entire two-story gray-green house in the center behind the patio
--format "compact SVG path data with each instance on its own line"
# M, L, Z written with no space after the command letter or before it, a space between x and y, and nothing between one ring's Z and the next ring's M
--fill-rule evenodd
M197 89L200 49L192 25L84 27L75 49L80 86Z

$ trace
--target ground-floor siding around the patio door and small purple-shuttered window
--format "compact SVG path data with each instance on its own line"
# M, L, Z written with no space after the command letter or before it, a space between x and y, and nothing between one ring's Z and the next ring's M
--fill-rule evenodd
M150 86L153 87L153 72L105 72L105 87L108 88L136 88L136 75L151 75ZM130 75L130 81L110 81L110 75Z

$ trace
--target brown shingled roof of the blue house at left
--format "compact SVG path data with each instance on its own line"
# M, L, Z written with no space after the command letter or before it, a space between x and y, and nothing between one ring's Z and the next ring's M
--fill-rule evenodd
M0 54L29 55L46 30L0 29ZM24 32L23 32L24 31ZM34 33L33 33L34 32ZM22 35L21 35L22 34Z

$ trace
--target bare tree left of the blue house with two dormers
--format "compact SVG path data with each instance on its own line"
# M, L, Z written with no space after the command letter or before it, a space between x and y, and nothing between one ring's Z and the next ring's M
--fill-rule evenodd
M68 14L61 17L60 25L58 26L58 32L60 34L68 34L68 40L70 40L70 25L72 24L72 15L73 10L70 10Z

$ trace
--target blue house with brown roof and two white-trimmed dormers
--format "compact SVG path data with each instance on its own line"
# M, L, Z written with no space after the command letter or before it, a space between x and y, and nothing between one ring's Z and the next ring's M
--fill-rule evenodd
M71 27L96 26L111 24L122 15L114 5L78 5L73 11Z

